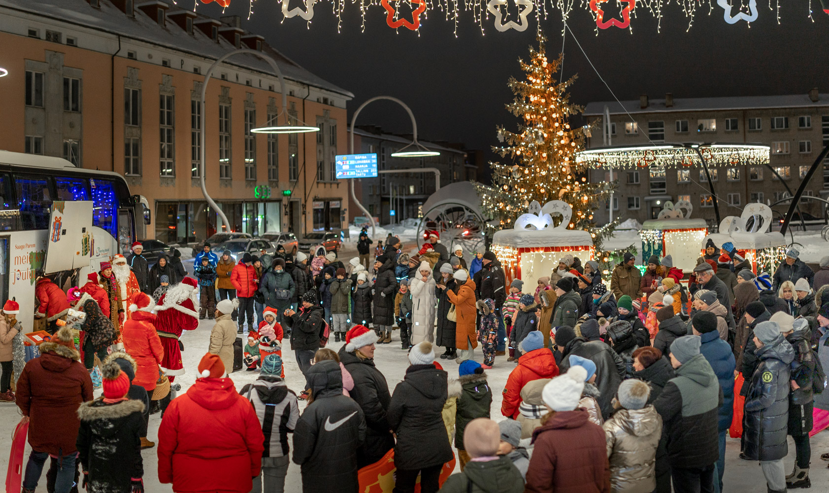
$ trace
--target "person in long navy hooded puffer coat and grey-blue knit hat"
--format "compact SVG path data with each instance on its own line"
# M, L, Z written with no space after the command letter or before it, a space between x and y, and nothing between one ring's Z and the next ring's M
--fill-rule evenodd
M754 344L760 363L745 398L743 453L749 461L760 461L768 491L778 493L786 491L783 457L788 453L789 364L794 349L771 320L754 327Z

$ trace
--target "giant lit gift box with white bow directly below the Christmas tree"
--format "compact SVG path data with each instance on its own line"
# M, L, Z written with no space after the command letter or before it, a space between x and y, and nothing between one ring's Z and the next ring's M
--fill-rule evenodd
M567 229L573 209L568 203L554 200L541 207L530 203L530 212L516 219L512 229L502 229L492 236L492 251L501 261L507 283L524 281L526 292L536 289L539 277L550 276L562 256L570 253L584 264L593 260L593 237L589 232ZM553 215L561 216L553 226Z

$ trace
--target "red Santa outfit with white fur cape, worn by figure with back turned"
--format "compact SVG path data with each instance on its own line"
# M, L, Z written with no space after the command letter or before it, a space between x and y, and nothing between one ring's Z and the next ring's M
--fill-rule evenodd
M199 312L196 311L196 286L192 277L185 277L176 286L171 286L158 299L155 327L164 347L164 367L167 377L174 381L176 375L184 373L182 350L178 338L184 330L199 326Z

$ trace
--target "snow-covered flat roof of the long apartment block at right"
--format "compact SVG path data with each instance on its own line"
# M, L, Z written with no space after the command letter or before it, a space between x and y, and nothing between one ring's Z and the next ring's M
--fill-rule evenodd
M665 100L649 100L647 108L642 108L639 100L594 101L584 108L584 116L604 115L604 106L611 115L628 112L634 113L676 113L680 111L711 110L759 110L764 108L808 108L829 106L829 94L818 95L817 101L809 99L807 94L734 96L716 98L673 98L673 105L666 106Z

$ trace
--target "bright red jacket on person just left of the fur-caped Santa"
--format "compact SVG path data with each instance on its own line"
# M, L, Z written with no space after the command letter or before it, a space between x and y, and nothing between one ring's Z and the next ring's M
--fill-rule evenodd
M155 330L155 315L147 311L133 311L129 320L124 322L121 335L124 337L124 350L135 359L138 370L133 378L133 385L140 385L153 392L158 381L158 365L164 359L164 348Z

